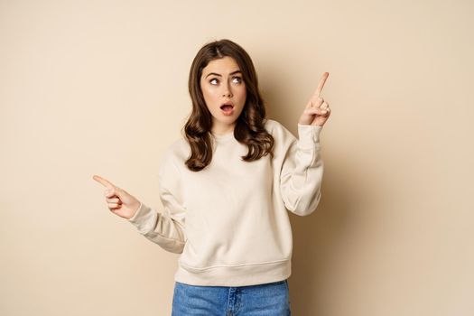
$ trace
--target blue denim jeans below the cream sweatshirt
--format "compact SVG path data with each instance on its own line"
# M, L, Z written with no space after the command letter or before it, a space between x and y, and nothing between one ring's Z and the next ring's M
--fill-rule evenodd
M174 283L172 316L288 316L288 281L247 286Z

